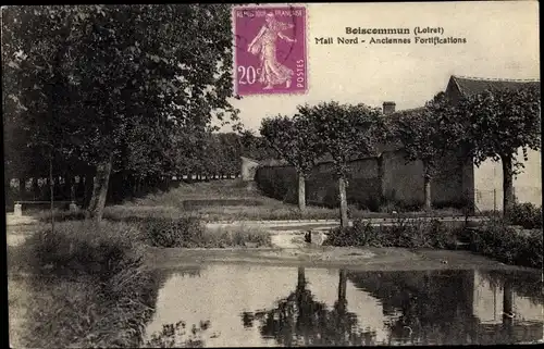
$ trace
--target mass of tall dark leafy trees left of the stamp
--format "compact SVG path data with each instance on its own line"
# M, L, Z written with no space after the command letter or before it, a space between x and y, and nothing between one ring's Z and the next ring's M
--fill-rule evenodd
M49 176L51 197L59 176L95 177L100 220L112 173L237 173L236 152L262 147L211 136L213 119L240 129L231 35L228 4L2 9L5 177Z

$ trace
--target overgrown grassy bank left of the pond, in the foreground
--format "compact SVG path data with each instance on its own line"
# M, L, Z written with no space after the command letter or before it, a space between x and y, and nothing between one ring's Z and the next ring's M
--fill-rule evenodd
M29 348L137 346L160 283L143 266L137 234L127 224L70 222L10 247L10 283L14 274L26 273L24 289L10 295L10 308L25 313L16 324L17 342Z

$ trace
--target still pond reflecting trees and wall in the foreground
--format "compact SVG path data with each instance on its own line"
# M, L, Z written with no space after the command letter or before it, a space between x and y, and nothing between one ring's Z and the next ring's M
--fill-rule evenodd
M165 347L490 345L543 338L542 277L533 271L208 264L169 274L147 325L148 344L153 336Z

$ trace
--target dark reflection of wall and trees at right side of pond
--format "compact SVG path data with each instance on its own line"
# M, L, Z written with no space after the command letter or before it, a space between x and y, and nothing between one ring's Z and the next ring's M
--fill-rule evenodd
M362 272L349 273L350 281L380 299L391 316L390 341L419 345L490 345L531 341L539 324L521 324L504 317L502 324L481 324L472 314L472 271ZM503 278L503 308L511 310L511 279ZM542 323L540 323L542 337Z

